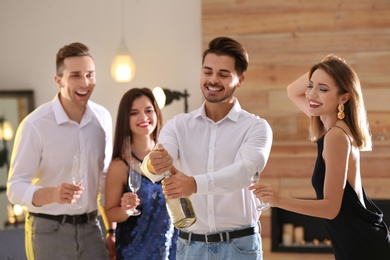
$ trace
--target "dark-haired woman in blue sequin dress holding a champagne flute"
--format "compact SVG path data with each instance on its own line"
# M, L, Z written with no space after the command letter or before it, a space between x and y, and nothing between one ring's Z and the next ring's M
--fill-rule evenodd
M161 127L161 111L150 89L133 88L123 95L105 198L107 217L117 222L116 259L175 259L177 230L169 218L161 183L142 176L137 194L128 185L130 161L142 162L155 146ZM132 215L135 208L140 215Z

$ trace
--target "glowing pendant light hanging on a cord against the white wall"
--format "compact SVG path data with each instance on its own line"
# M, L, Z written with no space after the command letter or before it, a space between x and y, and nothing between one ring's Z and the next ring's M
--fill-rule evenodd
M111 76L116 82L130 82L135 75L135 63L127 49L124 37L124 6L121 1L121 42L118 51L112 60Z

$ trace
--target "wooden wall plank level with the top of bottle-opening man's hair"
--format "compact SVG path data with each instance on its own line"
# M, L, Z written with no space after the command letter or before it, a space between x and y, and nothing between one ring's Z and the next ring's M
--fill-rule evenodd
M230 34L225 32L216 35L229 36ZM214 36L210 35L203 40L208 43ZM231 36L246 46L252 57L251 63L255 64L261 61L253 57L262 53L283 56L284 53L311 55L311 53L322 52L325 56L328 53L338 52L383 52L389 49L390 44L390 29L372 31L366 29L359 34L355 31L318 31Z

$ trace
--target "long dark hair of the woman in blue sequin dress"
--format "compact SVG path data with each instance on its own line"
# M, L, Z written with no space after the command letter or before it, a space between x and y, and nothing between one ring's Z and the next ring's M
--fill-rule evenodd
M157 101L154 98L153 92L148 88L132 88L127 91L120 103L118 108L118 115L116 118L116 127L114 135L114 147L112 153L112 159L114 158L130 158L130 147L133 143L133 133L130 130L130 110L133 105L133 101L139 97L146 96L150 99L153 104L154 111L156 112L157 125L152 133L152 138L157 142L158 135L162 128L162 114L161 110L157 105Z

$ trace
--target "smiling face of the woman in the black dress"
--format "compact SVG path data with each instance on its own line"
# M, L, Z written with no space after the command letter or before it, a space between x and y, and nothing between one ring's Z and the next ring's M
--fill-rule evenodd
M339 94L336 82L324 70L317 69L313 72L306 91L309 112L312 116L336 118L337 106L347 101L345 97L345 94Z

